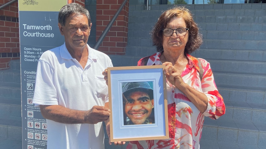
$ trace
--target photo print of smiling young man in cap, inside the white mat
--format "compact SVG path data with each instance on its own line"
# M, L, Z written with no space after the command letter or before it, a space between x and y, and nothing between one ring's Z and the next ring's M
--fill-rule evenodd
M154 124L151 85L148 82L125 82L122 87L124 125Z

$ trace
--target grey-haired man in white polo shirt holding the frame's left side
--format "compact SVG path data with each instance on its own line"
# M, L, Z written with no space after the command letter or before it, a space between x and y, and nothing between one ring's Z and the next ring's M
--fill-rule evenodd
M92 23L85 7L63 6L58 22L65 43L40 57L33 98L47 119L47 148L103 149L110 109L102 71L112 62L87 45Z

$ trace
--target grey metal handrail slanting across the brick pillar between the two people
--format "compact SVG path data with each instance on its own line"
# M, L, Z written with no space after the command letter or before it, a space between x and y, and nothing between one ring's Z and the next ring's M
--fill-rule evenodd
M122 8L125 6L126 2L127 2L127 0L124 0L123 3L120 5L120 7L118 8L118 10L114 14L113 18L111 19L111 21L108 23L108 25L106 26L106 28L102 32L102 35L99 37L98 41L95 43L93 49L96 49L97 50L99 48L100 44L103 41L103 38L109 32L110 28L112 27L112 24L114 23L114 21L117 18L117 16L120 14L120 12L121 12Z

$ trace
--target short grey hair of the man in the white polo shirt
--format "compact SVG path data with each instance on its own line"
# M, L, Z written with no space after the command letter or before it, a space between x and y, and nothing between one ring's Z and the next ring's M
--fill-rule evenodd
M70 3L65 6L63 6L58 14L58 23L60 23L62 26L65 25L66 19L71 15L71 14L84 14L88 18L88 23L90 25L91 19L89 15L89 11L82 5L78 3Z

